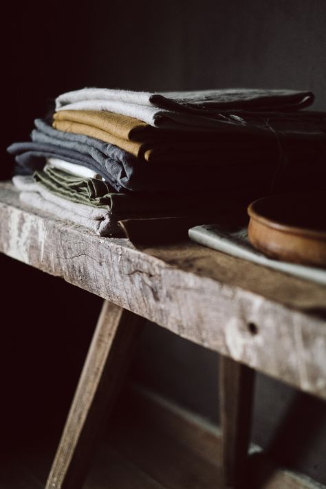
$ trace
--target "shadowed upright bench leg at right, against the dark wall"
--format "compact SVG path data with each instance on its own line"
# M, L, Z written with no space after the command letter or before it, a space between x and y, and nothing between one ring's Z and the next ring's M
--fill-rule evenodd
M224 485L238 489L246 486L254 370L232 358L219 358Z

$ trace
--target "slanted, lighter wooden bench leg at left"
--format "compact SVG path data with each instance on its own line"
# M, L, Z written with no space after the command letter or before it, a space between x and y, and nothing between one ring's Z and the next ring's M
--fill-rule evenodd
M144 318L104 301L45 489L80 489Z

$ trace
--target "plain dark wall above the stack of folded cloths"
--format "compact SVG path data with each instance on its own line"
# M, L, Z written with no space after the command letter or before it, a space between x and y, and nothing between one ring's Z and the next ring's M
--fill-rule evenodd
M85 86L309 89L325 109L325 10L325 0L7 3L3 148Z

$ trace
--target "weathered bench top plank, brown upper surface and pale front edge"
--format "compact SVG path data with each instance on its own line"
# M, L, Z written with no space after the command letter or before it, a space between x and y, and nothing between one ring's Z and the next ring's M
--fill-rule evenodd
M179 336L326 398L325 287L195 243L126 239L23 208L0 186L0 251Z

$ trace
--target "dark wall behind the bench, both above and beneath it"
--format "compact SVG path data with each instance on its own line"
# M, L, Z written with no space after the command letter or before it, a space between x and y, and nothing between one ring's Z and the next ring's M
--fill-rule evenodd
M12 2L5 13L2 178L6 146L70 89L305 89L326 110L325 0ZM32 426L64 420L100 299L6 257L0 265L3 420L12 444L28 444ZM217 363L149 324L131 377L217 422ZM325 433L323 402L259 376L254 441L325 483Z

